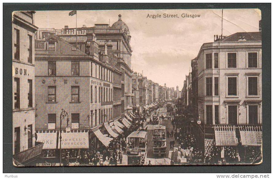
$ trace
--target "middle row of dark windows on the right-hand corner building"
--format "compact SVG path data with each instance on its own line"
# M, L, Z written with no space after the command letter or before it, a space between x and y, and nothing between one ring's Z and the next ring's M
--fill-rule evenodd
M213 96L212 88L214 79L214 96L219 96L219 78L218 77L208 77L206 78L206 96ZM237 96L237 77L227 78L227 95ZM258 95L258 77L248 77L248 95L257 96Z

